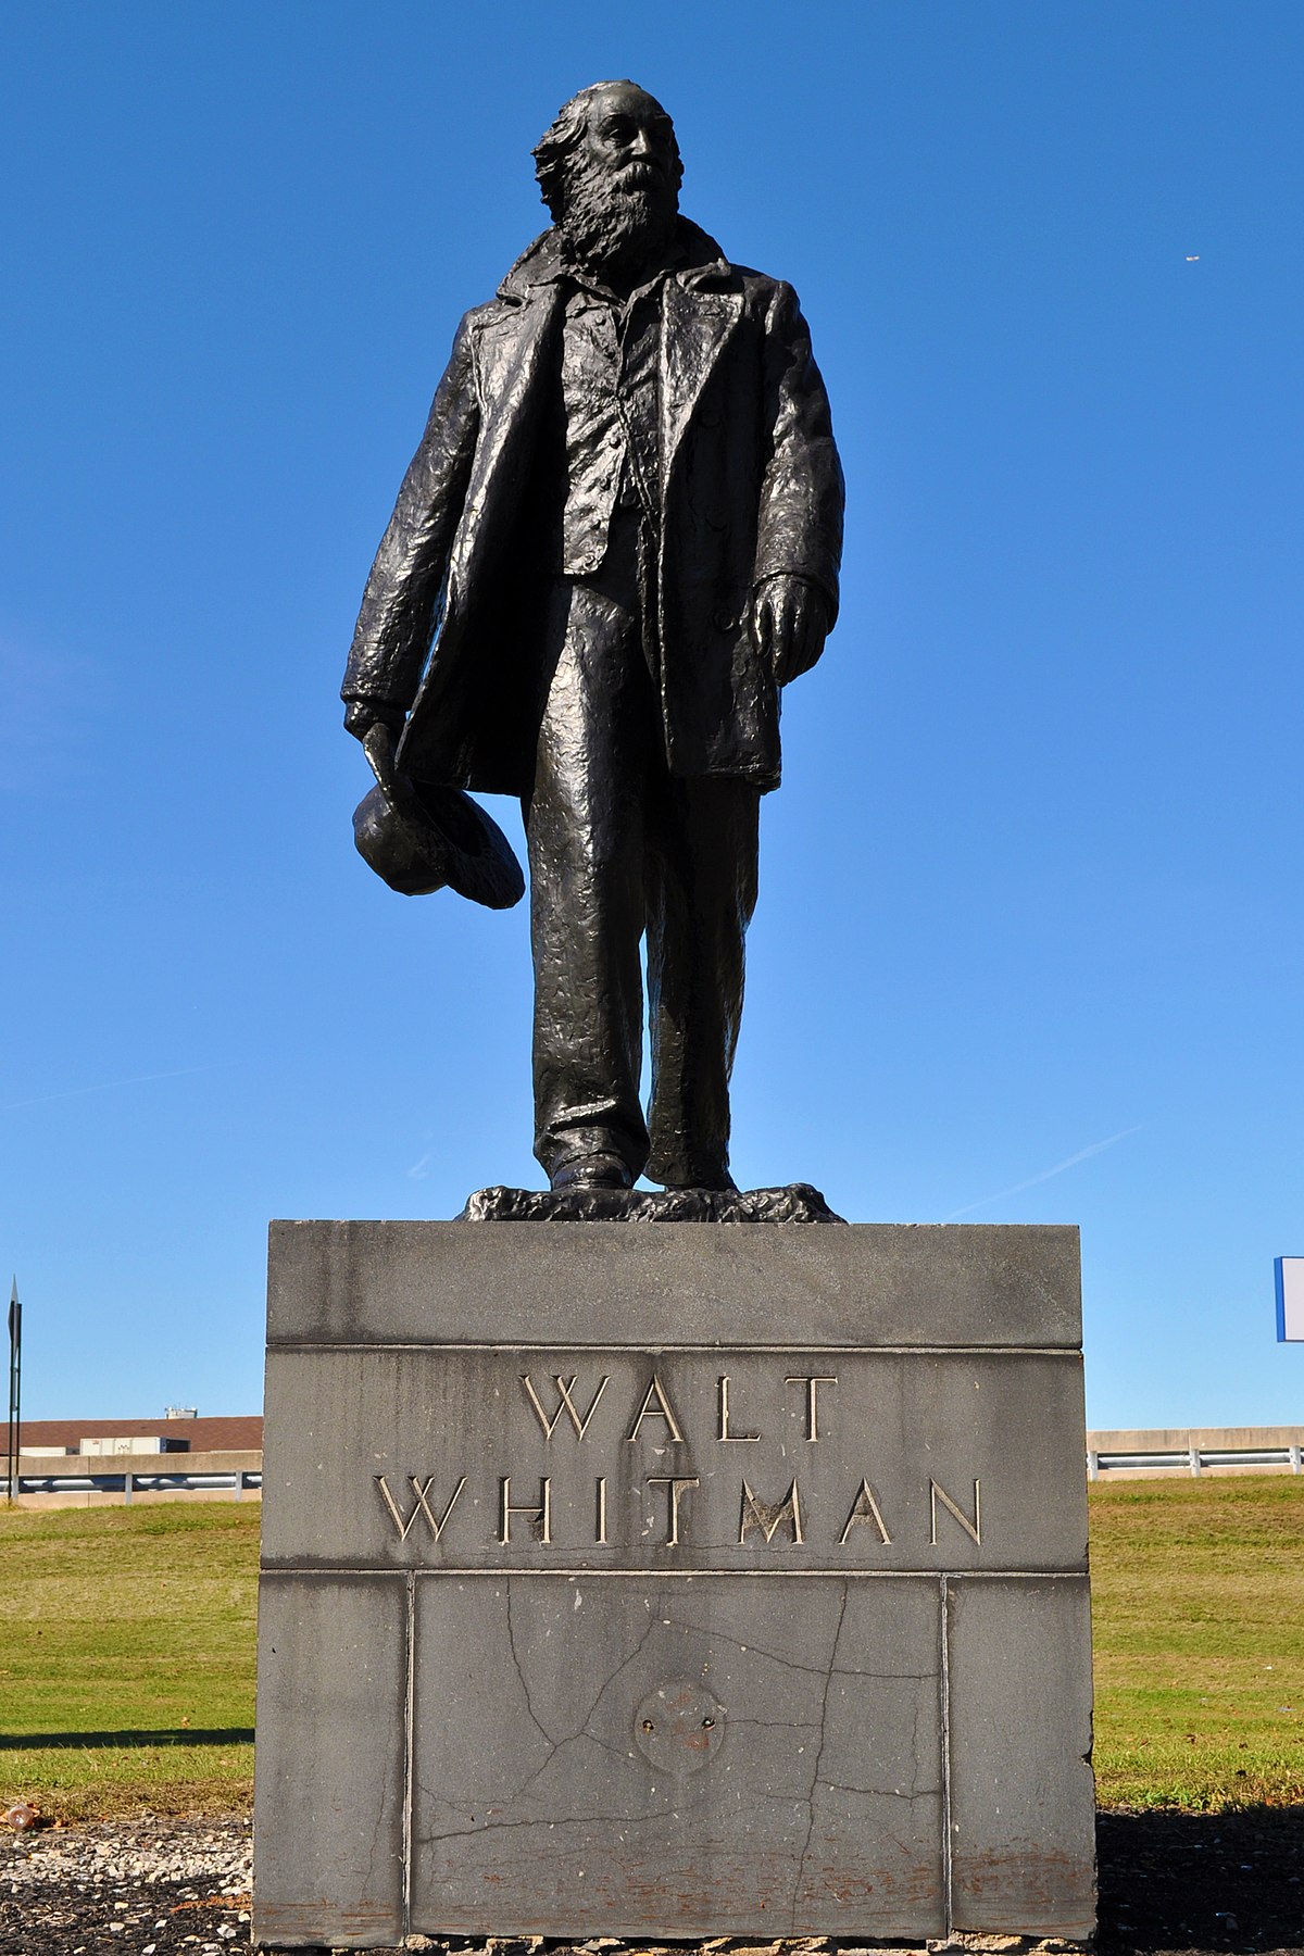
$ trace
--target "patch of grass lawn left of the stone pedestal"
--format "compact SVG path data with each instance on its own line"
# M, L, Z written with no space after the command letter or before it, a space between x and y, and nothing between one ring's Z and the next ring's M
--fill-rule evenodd
M258 1512L0 1508L0 1803L65 1819L248 1805Z

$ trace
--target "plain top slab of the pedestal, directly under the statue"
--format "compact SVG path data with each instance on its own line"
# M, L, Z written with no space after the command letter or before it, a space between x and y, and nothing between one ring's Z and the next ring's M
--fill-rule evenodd
M274 1222L278 1344L1081 1346L1077 1230Z

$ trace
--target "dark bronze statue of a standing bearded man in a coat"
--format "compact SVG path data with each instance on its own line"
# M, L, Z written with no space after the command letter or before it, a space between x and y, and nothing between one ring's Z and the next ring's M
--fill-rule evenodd
M454 790L520 796L551 1187L733 1189L759 798L780 687L837 616L843 471L796 295L678 215L665 110L596 82L534 155L553 225L457 329L344 724L436 831ZM471 802L456 820L497 894L450 880L512 902L499 831Z

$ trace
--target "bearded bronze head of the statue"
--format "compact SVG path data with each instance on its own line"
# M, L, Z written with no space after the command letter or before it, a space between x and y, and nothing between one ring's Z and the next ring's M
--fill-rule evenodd
M635 274L669 244L684 166L674 125L633 82L594 82L534 151L543 203L579 264Z

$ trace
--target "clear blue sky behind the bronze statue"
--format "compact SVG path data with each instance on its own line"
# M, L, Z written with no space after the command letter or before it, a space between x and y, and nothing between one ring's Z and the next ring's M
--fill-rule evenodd
M1298 0L8 0L0 59L25 1410L250 1410L268 1217L538 1185L524 906L364 868L336 689L530 147L630 74L848 477L739 1179L1079 1222L1093 1424L1304 1420Z

